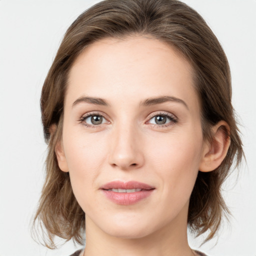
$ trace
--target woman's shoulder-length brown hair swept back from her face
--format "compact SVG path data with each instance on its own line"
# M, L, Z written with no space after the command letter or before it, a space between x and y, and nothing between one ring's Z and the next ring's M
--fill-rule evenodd
M210 128L218 121L224 120L230 127L226 131L230 146L222 163L213 171L198 172L190 196L188 227L197 235L208 230L207 241L219 228L221 217L230 213L221 196L221 184L232 164L240 163L243 150L231 104L229 65L220 43L203 18L178 0L104 0L80 14L67 29L42 87L41 118L48 154L33 225L38 221L44 245L49 248L55 247L55 235L82 244L85 228L85 215L72 192L69 173L59 169L54 151L61 139L69 70L93 42L133 35L166 42L190 62L205 140L213 139Z

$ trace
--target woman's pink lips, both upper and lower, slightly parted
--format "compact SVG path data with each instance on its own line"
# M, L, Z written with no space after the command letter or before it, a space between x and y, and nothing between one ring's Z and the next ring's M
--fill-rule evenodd
M131 192L131 193L114 192L114 191L107 190L111 188L121 188L121 189L140 188L142 190ZM100 189L102 190L104 195L108 199L110 199L112 202L117 204L122 204L122 205L129 205L129 204L134 204L148 197L154 190L154 187L138 181L128 181L128 182L111 181L101 186Z

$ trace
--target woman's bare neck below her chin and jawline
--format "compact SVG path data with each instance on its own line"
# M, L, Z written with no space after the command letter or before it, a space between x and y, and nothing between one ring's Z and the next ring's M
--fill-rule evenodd
M194 256L187 241L186 217L178 215L171 223L143 237L123 238L104 232L86 216L84 256Z

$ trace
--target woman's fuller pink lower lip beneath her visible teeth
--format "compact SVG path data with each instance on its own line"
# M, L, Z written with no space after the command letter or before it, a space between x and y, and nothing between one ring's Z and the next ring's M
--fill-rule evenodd
M109 190L102 189L104 195L110 199L112 202L122 205L134 204L146 197L148 197L154 189L141 190L132 193L119 193Z

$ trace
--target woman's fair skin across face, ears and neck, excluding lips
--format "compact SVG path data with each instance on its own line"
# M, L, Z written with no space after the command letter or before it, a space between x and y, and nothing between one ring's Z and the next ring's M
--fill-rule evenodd
M162 96L176 100L141 105ZM102 123L81 119L86 114L102 114ZM175 120L156 123L162 114ZM223 125L212 128L211 145L203 140L193 69L171 46L133 36L87 47L70 70L62 140L55 148L86 215L84 255L195 255L187 243L189 196L198 170L213 170L225 156ZM135 204L119 205L99 189L113 180L155 189Z

